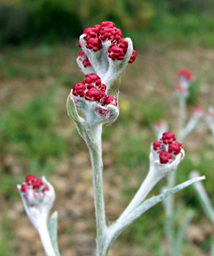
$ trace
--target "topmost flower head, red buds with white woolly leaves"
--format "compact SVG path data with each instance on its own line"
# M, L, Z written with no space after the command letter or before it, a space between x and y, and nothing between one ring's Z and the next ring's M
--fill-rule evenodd
M77 64L84 74L97 74L107 91L128 63L136 59L133 42L122 38L122 31L113 22L86 28L79 39L81 52Z

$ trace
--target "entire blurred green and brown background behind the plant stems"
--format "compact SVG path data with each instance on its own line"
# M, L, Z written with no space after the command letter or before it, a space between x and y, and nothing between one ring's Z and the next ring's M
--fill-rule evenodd
M204 112L213 104L214 2L211 0L0 0L0 255L43 255L38 234L23 211L16 184L45 175L57 190L61 255L93 255L92 177L88 151L66 114L69 90L84 75L76 58L86 27L109 20L133 39L136 62L113 85L120 116L103 134L105 202L109 222L125 208L149 166L151 126L164 118L177 132L176 74L196 80L188 101ZM184 142L178 170L205 174L214 202L212 136L201 126ZM152 194L160 193L166 179ZM151 194L151 195L152 195ZM176 226L195 210L183 255L207 256L213 228L188 188L176 195ZM160 256L166 248L164 210L149 210L121 235L109 256ZM196 235L195 235L196 234Z

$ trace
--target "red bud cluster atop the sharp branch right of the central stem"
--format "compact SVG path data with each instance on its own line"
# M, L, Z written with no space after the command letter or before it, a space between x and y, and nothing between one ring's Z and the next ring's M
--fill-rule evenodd
M170 132L164 133L159 141L153 142L153 150L159 154L161 163L172 162L181 149L182 144L176 142L176 136Z

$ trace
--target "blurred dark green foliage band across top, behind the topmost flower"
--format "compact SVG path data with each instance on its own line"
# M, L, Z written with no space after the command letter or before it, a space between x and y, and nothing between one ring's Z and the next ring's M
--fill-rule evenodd
M139 32L186 43L201 33L201 42L213 46L213 12L212 0L6 0L0 6L0 42L69 42L85 27L111 20L136 43Z

